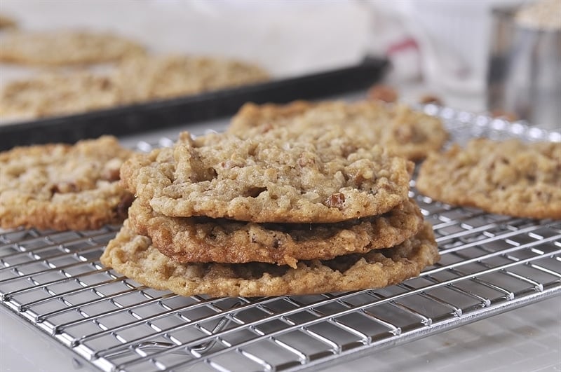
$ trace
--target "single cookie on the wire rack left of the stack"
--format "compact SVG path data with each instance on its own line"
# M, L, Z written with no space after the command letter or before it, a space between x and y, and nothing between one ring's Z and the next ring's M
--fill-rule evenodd
M55 230L120 223L133 195L119 186L131 151L114 137L0 153L0 227Z

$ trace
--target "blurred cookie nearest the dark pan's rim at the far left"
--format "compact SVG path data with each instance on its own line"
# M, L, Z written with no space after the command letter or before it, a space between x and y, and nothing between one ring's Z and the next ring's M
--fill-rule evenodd
M0 119L25 120L119 104L114 78L90 72L44 74L11 81L0 90Z

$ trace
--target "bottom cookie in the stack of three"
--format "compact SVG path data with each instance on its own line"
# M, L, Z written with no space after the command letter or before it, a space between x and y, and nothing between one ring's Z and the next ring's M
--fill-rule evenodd
M389 249L300 261L297 268L271 263L178 263L137 235L125 221L101 262L154 289L181 296L283 296L379 288L419 275L439 259L432 227Z

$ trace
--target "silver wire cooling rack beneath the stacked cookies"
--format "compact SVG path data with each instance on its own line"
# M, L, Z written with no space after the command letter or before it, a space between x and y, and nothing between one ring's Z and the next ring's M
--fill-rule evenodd
M453 140L561 135L426 106ZM157 146L171 139L155 141ZM152 144L140 142L147 150ZM336 364L561 294L561 221L417 195L442 259L402 284L337 294L182 297L104 268L120 226L0 230L4 307L103 371L296 371Z

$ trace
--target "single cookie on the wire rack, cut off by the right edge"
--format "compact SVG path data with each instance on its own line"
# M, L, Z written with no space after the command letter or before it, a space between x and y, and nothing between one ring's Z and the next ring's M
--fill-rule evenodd
M453 205L537 219L561 219L561 143L473 139L421 165L417 188Z

